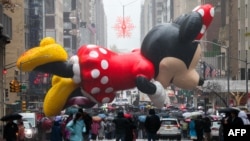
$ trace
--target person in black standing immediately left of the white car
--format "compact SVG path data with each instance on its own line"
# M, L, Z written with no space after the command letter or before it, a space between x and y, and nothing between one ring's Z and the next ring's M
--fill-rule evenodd
M149 115L145 120L145 129L147 132L148 141L155 141L157 139L157 131L161 127L161 121L159 116L155 114L154 109L149 110Z

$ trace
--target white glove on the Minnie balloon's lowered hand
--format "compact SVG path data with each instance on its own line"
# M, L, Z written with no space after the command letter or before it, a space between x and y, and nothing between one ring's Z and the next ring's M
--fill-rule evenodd
M157 108L162 108L166 100L166 91L160 82L153 82L156 86L156 92L153 95L148 95L150 100L153 102L154 106Z

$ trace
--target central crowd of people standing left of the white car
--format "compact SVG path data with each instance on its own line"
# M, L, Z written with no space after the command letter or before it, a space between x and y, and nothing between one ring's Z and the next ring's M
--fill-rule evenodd
M46 132L46 140L50 141L135 141L137 138L156 140L156 132L160 128L160 118L154 109L148 111L144 122L136 116L122 110L116 112L114 118L95 118L79 109L67 118L54 118L51 126L42 128ZM47 120L50 120L47 118ZM43 121L44 122L44 121ZM139 135L141 131L141 135Z

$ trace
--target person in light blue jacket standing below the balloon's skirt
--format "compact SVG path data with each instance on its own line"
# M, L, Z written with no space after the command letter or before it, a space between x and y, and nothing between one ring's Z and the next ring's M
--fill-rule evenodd
M70 141L83 141L83 129L85 127L85 123L82 119L82 113L77 112L75 117L66 125L66 128L70 132Z

